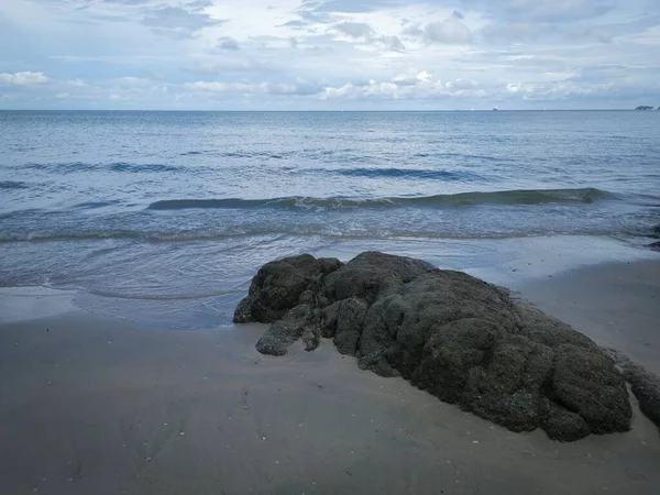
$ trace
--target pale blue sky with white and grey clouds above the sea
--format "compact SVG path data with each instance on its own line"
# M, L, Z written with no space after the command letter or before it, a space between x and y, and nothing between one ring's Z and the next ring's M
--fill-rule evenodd
M660 106L660 0L1 0L0 109Z

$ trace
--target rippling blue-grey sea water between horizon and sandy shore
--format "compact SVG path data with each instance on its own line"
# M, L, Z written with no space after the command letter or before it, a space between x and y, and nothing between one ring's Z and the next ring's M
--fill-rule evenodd
M0 285L209 324L301 252L470 268L535 239L641 246L659 157L660 112L4 111Z

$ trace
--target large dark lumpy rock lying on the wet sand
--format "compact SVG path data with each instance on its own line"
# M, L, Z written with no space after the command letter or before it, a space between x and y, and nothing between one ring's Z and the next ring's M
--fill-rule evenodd
M308 350L333 339L362 369L400 375L514 431L573 441L630 428L626 382L593 341L506 289L419 260L272 262L234 321L272 323L256 344L267 354L300 338Z

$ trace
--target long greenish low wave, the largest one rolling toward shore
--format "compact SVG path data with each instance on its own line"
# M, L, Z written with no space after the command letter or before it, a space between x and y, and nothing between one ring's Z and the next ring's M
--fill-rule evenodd
M183 210L183 209L244 209L244 208L276 208L276 209L355 209L355 208L441 208L468 207L480 205L521 205L534 206L543 204L592 204L597 200L618 199L606 190L595 188L582 189L520 189L494 193L459 193L454 195L392 197L374 199L353 198L312 198L293 196L274 199L170 199L152 202L150 210Z

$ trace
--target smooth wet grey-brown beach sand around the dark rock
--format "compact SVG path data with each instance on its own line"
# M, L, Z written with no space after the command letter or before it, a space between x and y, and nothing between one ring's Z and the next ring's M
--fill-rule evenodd
M660 261L513 287L659 372ZM148 329L0 290L0 494L657 494L660 435L513 433L263 327Z

